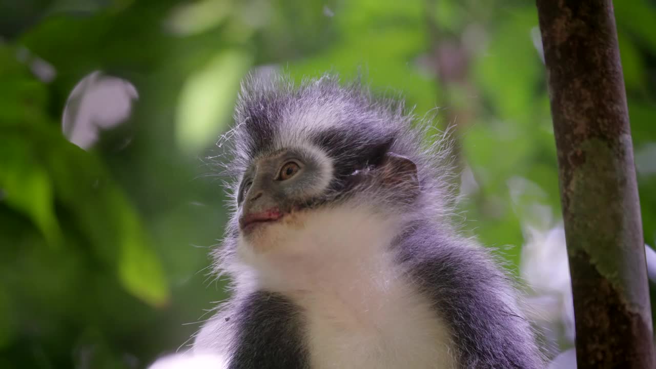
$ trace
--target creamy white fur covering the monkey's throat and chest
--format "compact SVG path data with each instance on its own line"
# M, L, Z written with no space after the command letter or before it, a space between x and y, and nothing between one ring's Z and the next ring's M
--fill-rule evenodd
M288 215L238 252L256 288L306 314L312 368L454 368L451 338L392 261L399 219L363 207Z

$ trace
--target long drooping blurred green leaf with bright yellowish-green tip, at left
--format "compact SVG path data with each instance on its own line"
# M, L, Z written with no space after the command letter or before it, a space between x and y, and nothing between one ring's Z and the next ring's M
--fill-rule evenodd
M76 222L104 263L115 266L117 276L130 293L152 305L169 298L159 258L125 195L91 153L64 141L49 156L58 199Z

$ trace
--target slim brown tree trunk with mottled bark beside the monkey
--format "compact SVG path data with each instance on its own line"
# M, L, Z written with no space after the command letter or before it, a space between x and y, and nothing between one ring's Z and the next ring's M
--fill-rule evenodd
M579 369L655 368L640 202L611 0L537 0Z

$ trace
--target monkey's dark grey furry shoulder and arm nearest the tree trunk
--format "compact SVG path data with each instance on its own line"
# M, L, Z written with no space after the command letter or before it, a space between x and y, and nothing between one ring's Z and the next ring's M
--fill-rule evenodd
M464 368L543 368L516 282L490 250L431 230L399 245L407 275L447 323Z

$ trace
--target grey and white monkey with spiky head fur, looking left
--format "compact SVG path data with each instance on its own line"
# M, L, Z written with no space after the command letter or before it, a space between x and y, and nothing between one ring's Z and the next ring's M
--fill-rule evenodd
M195 335L229 369L537 369L520 293L454 221L447 139L325 74L246 77L213 251L232 296Z

